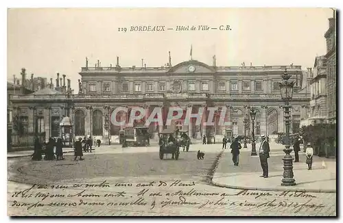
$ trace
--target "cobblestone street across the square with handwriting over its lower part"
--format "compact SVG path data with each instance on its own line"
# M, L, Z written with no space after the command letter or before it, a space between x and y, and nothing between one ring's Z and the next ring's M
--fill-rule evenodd
M294 216L336 213L334 193L215 187L209 178L222 150L218 145L196 147L207 151L204 160L196 159L195 149L182 152L177 161L160 160L155 152L89 153L84 161L73 161L72 155L65 155L64 161L8 159L8 214ZM40 186L33 187L34 183Z

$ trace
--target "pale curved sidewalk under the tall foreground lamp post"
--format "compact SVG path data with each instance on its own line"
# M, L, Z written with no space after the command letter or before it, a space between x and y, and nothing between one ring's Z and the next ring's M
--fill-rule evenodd
M271 148L273 148L271 144ZM279 148L279 146L276 146ZM259 156L251 156L250 149L241 151L239 166L233 166L230 150L225 150L213 175L212 183L220 187L235 189L258 189L296 192L336 192L336 159L314 156L312 170L307 170L305 153L300 152L300 162L293 163L295 186L281 186L283 178L283 156L273 149L268 159L269 178L261 175ZM294 153L291 153L294 157Z

